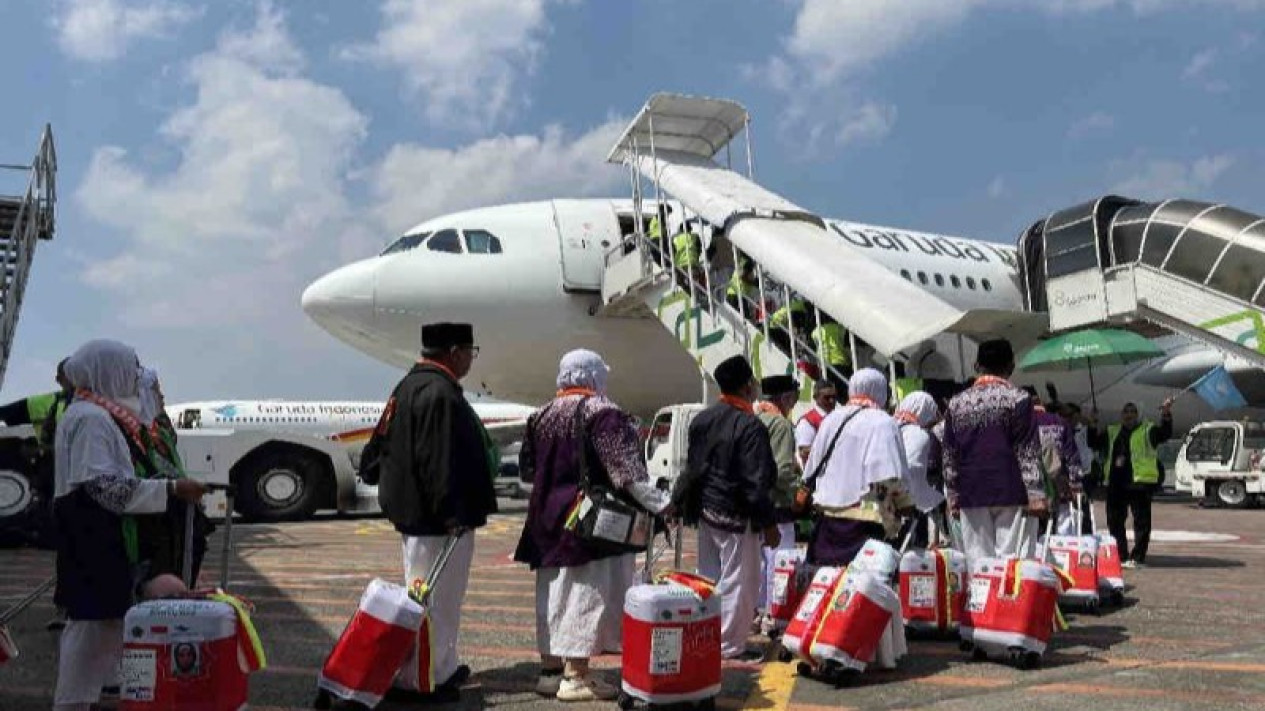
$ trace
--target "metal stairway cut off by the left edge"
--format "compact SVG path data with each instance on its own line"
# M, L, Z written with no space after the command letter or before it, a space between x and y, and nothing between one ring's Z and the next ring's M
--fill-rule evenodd
M44 127L35 157L27 166L0 164L0 171L23 176L25 189L18 195L0 194L0 385L9 367L18 314L27 291L35 244L53 238L57 202L57 153L53 132ZM19 183L20 185L20 183Z

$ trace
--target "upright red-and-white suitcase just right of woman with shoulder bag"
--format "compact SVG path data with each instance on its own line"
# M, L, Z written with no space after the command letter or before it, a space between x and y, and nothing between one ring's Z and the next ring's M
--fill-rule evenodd
M624 598L619 705L715 707L721 687L721 598L707 578L670 573Z

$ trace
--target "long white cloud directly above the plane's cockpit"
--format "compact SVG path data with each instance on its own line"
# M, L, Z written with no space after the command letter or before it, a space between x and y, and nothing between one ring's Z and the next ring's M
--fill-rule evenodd
M549 127L541 135L498 135L454 149L395 145L373 170L376 215L395 234L482 205L612 195L627 173L605 158L625 124L611 119L574 139Z

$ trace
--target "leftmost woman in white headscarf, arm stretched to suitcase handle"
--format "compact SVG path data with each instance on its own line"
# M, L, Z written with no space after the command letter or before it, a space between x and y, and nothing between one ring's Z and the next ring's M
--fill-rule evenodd
M123 616L135 601L143 541L135 516L162 514L170 497L195 502L192 479L144 479L137 353L113 340L86 343L66 363L77 388L57 428L58 525L56 602L62 633L56 711L87 711L123 654ZM130 440L130 442L129 442Z

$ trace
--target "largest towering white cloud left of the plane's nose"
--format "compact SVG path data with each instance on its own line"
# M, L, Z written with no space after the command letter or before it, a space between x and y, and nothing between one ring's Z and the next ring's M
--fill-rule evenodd
M190 63L196 97L161 129L178 151L172 170L151 171L118 147L94 153L77 199L129 248L83 278L120 297L126 324L297 314L304 278L336 259L323 240L350 229L344 176L367 119L339 90L299 76L301 61L263 5L253 29L224 34Z

